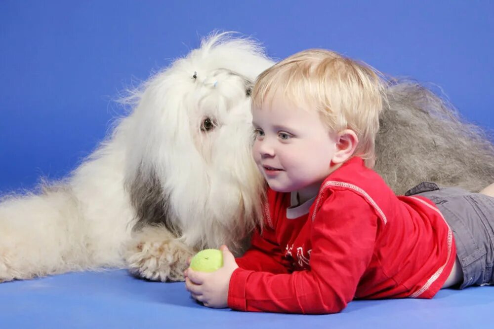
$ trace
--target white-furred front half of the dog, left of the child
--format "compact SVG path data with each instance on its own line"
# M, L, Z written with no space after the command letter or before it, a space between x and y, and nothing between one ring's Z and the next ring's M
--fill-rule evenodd
M176 280L193 250L226 243L240 252L262 195L246 89L272 64L254 42L214 35L150 78L69 178L3 198L0 281L102 266ZM131 238L138 215L147 225ZM179 239L146 222L164 217Z

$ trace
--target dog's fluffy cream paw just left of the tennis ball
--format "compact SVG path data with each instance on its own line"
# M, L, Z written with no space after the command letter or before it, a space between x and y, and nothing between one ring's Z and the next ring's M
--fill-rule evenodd
M153 281L183 281L191 248L162 227L145 227L126 248L130 273Z

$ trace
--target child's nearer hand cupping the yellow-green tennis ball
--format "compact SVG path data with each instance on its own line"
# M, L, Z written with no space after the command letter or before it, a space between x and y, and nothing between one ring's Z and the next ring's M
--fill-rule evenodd
M221 246L223 252L223 267L219 270L205 273L190 268L185 271L185 288L192 298L202 302L207 307L222 308L228 306L228 287L233 271L239 267L235 257L226 246Z

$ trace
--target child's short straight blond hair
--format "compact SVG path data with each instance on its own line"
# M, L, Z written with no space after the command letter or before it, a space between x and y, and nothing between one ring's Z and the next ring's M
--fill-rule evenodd
M309 49L261 73L252 90L252 107L262 108L276 92L288 103L322 114L331 131L351 129L359 138L354 155L375 163L374 140L383 107L382 74L336 52Z

